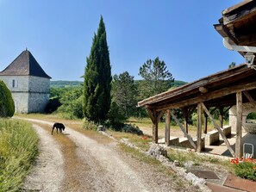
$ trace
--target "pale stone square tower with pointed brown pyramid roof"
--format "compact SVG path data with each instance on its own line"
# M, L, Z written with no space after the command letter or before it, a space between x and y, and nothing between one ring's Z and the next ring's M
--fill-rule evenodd
M50 78L26 49L0 72L13 96L16 113L43 112L49 100Z

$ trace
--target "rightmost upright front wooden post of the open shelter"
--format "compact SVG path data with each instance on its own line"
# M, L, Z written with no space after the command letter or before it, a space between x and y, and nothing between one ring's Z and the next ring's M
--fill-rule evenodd
M241 157L242 93L236 93L236 141L235 158Z

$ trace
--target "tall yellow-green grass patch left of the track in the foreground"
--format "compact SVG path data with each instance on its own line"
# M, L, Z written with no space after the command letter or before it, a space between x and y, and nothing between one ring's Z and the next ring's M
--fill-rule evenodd
M38 154L37 144L31 124L0 119L0 191L18 191Z

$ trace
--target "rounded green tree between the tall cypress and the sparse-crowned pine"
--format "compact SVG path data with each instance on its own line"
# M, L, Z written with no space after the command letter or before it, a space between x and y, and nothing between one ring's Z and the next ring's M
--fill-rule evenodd
M115 75L112 81L112 101L122 108L125 117L134 115L137 104L138 89L134 77L128 71Z

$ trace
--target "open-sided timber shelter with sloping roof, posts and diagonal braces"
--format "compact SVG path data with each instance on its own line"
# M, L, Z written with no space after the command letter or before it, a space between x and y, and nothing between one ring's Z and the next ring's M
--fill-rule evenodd
M213 122L215 128L221 134L228 150L234 156L241 155L241 120L242 103L252 102L256 106L256 71L248 68L247 65L235 66L227 71L221 71L209 77L201 78L190 84L184 84L174 90L169 90L156 96L149 97L138 102L139 107L145 107L153 122L153 140L158 143L158 123L162 115L165 116L165 144L169 145L170 140L170 115L176 121L187 139L190 140L197 152L201 152L202 118L207 115ZM231 148L228 139L222 133L222 125L215 122L209 113L209 108L215 107L224 114L224 107L237 106L237 138L235 153ZM173 114L173 108L180 108L184 115L184 127ZM187 120L192 109L197 108L197 145L187 133ZM222 124L222 123L221 123Z

